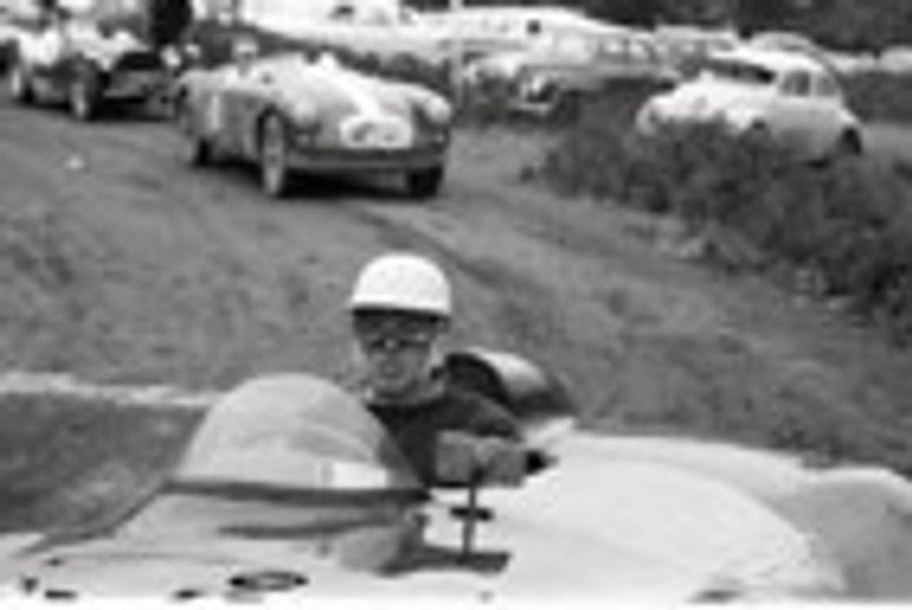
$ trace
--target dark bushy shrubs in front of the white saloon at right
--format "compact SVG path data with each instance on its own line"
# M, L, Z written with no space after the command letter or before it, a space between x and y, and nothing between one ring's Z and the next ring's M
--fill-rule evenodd
M811 165L714 126L642 138L592 110L537 169L555 189L672 214L710 263L812 274L897 342L912 338L912 182L896 167Z

